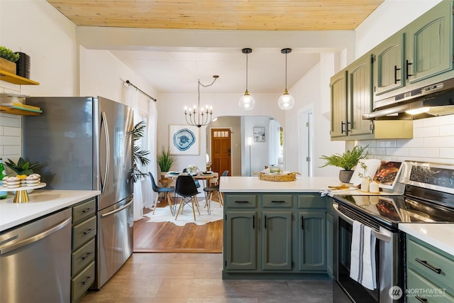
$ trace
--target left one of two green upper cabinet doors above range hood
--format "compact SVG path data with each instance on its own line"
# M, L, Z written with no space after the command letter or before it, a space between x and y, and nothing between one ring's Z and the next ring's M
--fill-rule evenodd
M372 50L374 55L374 94L381 94L405 85L404 33L397 33Z

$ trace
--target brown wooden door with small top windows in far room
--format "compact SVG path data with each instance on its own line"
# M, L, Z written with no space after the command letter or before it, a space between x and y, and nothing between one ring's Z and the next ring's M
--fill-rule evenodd
M211 128L211 163L219 175L228 170L231 175L231 130L230 128Z

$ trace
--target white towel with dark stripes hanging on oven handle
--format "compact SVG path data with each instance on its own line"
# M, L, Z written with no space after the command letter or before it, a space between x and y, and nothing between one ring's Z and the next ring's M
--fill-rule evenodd
M377 288L375 242L372 228L358 221L353 221L350 277L368 290Z

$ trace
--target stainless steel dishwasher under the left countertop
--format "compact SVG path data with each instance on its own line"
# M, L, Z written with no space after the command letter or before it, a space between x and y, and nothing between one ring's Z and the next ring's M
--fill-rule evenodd
M70 302L71 209L0 233L0 303Z

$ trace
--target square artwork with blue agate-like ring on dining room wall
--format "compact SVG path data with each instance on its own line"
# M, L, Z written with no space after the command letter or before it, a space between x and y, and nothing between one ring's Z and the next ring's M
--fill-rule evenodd
M199 155L199 128L189 125L170 125L169 146L172 155Z

